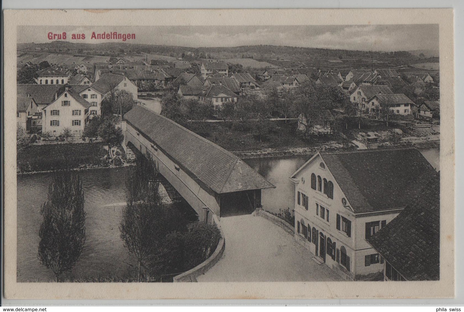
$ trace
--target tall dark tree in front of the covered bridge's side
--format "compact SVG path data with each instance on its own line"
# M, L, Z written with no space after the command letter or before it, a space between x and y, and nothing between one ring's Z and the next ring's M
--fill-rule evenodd
M165 238L170 232L183 232L186 223L178 210L162 203L159 171L153 158L147 153L136 159L136 166L126 176L127 206L119 230L124 247L137 259L140 281L142 267L157 274L168 267L169 259L161 256L169 248Z

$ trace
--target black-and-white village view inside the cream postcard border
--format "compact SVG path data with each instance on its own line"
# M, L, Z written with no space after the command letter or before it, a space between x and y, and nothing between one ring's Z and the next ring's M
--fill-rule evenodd
M17 285L443 278L440 25L265 22L16 26Z

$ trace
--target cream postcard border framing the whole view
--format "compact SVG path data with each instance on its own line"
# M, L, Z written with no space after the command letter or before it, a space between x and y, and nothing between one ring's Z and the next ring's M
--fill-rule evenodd
M455 295L454 32L452 9L6 10L4 13L4 282L8 299L343 299ZM17 26L439 24L440 280L423 282L16 282ZM227 239L227 238L226 238ZM227 247L226 247L227 248ZM355 283L355 284L354 284Z

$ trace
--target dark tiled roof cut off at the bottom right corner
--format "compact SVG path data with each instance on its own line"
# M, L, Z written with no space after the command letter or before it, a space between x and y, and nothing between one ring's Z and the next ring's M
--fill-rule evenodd
M406 280L440 278L440 180L431 177L418 196L367 242Z

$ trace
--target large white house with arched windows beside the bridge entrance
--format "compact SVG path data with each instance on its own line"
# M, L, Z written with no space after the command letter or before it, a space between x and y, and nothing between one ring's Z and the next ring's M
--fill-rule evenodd
M383 260L366 239L435 175L415 148L318 152L290 176L295 237L347 280L383 280Z

